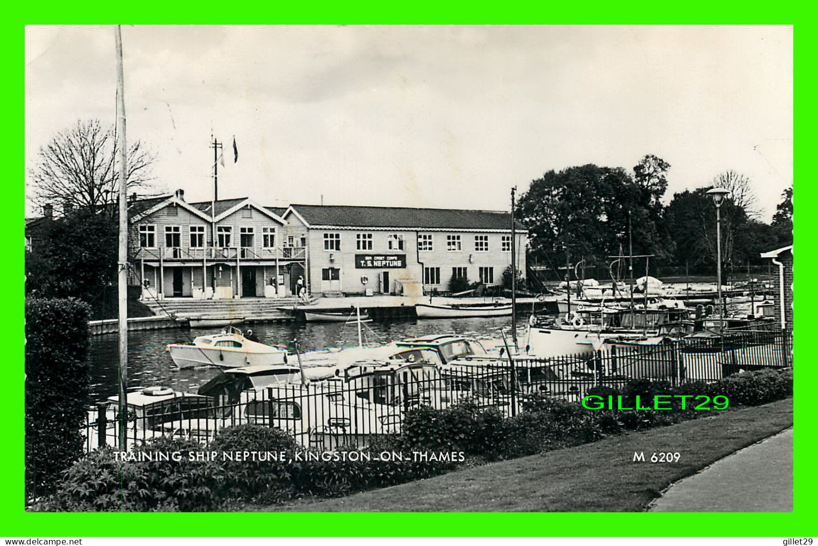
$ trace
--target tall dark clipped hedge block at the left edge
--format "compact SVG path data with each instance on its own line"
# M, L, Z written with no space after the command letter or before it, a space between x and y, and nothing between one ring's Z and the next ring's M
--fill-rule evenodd
M25 490L32 498L83 454L87 418L88 305L75 299L25 302Z

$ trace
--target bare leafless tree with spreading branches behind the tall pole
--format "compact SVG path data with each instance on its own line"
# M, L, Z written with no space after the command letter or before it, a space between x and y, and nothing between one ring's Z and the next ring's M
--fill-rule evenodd
M151 180L153 157L142 142L128 149L128 190ZM37 204L112 211L119 197L119 140L114 128L97 119L78 120L40 148L29 169L32 199Z

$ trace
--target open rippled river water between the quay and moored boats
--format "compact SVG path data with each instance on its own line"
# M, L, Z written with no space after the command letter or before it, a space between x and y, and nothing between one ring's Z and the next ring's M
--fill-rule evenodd
M508 328L510 317L485 319L393 320L362 325L363 341L387 343L429 333L459 333L476 338L498 338ZM268 323L245 324L258 338L269 344L287 345L299 340L301 351L326 347L357 346L356 324L343 323ZM190 342L192 338L218 329L161 329L128 333L128 391L152 385L166 385L178 391L196 392L217 373L213 368L178 369L173 365L168 343ZM91 402L117 392L117 336L105 334L91 338Z

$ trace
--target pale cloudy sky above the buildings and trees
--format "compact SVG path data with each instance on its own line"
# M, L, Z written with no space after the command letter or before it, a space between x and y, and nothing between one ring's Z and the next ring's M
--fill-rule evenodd
M160 190L267 205L504 209L550 169L728 168L769 221L793 176L793 33L767 27L124 27L128 140ZM26 161L115 123L111 27L26 29ZM232 158L230 158L230 161ZM30 210L29 210L30 212Z

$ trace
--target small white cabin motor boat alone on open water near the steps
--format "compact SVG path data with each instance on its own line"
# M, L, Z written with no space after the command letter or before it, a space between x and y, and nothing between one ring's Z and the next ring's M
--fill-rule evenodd
M196 336L192 343L170 343L168 351L179 368L218 366L238 368L250 365L286 364L287 351L250 341L239 329Z

